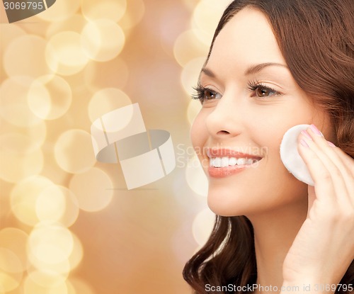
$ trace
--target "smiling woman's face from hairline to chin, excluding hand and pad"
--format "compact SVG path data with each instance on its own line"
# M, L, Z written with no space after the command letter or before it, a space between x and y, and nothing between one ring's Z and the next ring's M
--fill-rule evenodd
M294 125L314 123L327 138L331 129L292 78L260 11L242 9L224 26L199 88L191 137L209 179L210 208L250 216L307 205L307 185L283 166L280 142Z

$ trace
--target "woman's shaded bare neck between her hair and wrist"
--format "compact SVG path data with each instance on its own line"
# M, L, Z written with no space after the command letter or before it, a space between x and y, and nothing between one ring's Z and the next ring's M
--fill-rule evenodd
M302 201L263 215L248 216L253 225L256 249L258 289L255 293L279 292L283 261L306 215L307 202Z

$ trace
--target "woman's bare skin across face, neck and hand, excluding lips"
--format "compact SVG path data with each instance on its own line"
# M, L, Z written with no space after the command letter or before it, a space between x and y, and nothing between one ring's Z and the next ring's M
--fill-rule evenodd
M328 142L336 144L329 115L292 78L260 11L242 9L221 30L200 74L200 96L191 139L209 179L208 205L218 215L251 220L257 283L300 290L306 283L313 286L309 294L334 293L314 285L339 283L354 257L354 160ZM313 126L299 136L314 188L280 159L282 136L299 124L316 125L324 135ZM205 152L213 147L261 160L216 179Z

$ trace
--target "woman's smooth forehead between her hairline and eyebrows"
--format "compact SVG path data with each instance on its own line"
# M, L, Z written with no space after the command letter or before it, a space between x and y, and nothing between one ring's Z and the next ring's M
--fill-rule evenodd
M285 64L268 19L257 9L245 8L222 28L217 36L208 67L249 67L250 64Z

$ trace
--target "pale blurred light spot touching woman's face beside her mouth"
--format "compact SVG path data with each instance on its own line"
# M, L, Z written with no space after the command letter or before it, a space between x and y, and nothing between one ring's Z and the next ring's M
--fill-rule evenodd
M192 147L190 147L192 148ZM185 169L185 179L188 186L197 194L207 196L207 176L197 157L189 158Z

